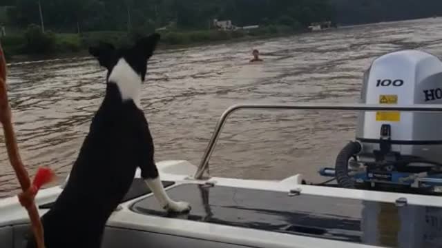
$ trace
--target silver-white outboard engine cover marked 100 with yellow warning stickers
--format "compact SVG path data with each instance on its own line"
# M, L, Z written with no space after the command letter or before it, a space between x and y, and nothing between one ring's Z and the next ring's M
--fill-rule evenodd
M417 50L385 54L365 72L361 100L365 104L441 104L442 62ZM439 113L361 112L356 138L363 146L363 162L372 161L386 141L392 153L414 158L416 166L442 164Z

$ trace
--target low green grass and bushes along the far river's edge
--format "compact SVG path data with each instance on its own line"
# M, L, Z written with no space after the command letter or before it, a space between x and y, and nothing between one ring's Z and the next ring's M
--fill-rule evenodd
M286 25L269 25L249 31L237 30L233 32L218 30L169 31L161 32L160 45L162 47L192 45L253 37L271 37L296 32L300 32L300 29ZM76 53L87 50L90 45L95 45L99 41L106 41L117 46L127 45L138 35L140 34L117 31L84 32L81 34L46 32L42 34L37 25L32 25L26 32L2 37L0 41L5 53L10 57L23 54Z

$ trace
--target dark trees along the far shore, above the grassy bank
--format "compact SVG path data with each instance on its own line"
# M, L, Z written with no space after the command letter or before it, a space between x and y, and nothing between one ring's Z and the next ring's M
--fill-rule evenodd
M348 25L442 15L441 0L2 0L9 7L0 14L17 28L40 25L39 2L44 23L55 32L153 30L170 23L204 30L212 19L305 27L316 21Z

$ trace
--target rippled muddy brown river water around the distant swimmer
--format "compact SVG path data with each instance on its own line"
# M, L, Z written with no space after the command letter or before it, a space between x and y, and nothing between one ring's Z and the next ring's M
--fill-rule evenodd
M248 63L253 48L265 63ZM355 103L371 61L410 48L442 56L442 19L157 51L142 92L155 158L198 164L220 114L235 103ZM102 101L105 72L87 57L12 63L9 69L23 161L30 174L50 166L60 182ZM213 154L211 174L282 179L301 173L318 181L318 168L333 165L354 138L355 120L355 112L238 112ZM0 136L0 197L18 188L3 141Z

